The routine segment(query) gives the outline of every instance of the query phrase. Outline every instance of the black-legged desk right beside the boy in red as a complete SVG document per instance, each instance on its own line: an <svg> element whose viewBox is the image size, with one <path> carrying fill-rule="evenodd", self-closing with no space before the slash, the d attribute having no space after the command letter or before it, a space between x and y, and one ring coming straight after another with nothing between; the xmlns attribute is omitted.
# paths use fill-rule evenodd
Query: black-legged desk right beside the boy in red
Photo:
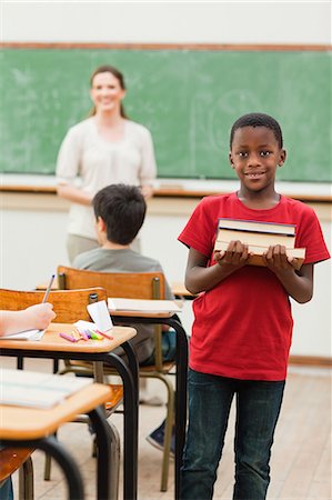
<svg viewBox="0 0 332 500"><path fill-rule="evenodd" d="M174 499L180 498L180 468L187 426L187 370L188 370L188 338L177 314L138 311L110 311L113 323L128 324L168 324L177 331L177 373L175 373L175 484Z"/></svg>

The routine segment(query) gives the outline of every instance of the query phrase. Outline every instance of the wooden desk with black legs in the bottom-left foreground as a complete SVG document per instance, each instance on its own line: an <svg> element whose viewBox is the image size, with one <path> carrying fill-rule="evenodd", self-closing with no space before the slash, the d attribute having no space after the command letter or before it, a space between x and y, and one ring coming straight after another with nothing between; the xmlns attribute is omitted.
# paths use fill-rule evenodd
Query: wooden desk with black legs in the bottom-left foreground
<svg viewBox="0 0 332 500"><path fill-rule="evenodd" d="M97 468L97 494L98 499L109 498L111 437L100 406L108 400L110 392L110 388L107 386L91 383L50 409L1 404L1 444L16 448L39 448L50 453L63 471L70 500L82 500L84 492L80 470L66 448L52 434L62 423L72 421L80 413L88 413L94 426L100 450Z"/></svg>

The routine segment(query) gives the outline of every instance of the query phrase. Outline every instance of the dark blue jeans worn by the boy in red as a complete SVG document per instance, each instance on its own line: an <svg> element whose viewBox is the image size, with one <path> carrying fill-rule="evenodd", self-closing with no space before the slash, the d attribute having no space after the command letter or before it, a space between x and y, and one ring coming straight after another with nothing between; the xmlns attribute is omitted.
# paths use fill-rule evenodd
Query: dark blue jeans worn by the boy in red
<svg viewBox="0 0 332 500"><path fill-rule="evenodd" d="M237 397L233 500L264 500L284 381L237 380L189 370L189 423L181 500L213 497L232 399Z"/></svg>

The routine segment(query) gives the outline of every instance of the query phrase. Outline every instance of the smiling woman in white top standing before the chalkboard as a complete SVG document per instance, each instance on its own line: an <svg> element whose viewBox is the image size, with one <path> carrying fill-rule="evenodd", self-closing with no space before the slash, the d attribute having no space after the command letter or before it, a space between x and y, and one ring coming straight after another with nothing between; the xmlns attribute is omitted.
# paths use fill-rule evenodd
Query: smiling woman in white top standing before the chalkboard
<svg viewBox="0 0 332 500"><path fill-rule="evenodd" d="M125 116L123 74L101 66L91 76L93 108L69 129L57 162L58 194L71 201L67 249L72 262L99 247L91 207L93 196L113 183L134 184L145 199L153 194L155 159L149 130Z"/></svg>

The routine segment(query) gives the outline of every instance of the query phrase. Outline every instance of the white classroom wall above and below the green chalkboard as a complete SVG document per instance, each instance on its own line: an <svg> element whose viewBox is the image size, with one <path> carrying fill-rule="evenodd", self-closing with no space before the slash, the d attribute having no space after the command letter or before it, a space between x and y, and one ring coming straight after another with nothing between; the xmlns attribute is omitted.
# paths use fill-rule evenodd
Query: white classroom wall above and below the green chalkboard
<svg viewBox="0 0 332 500"><path fill-rule="evenodd" d="M6 42L331 43L330 1L2 0L0 16ZM27 209L1 207L2 287L32 288L47 280L58 263L67 263L66 211L53 202L41 210L33 200ZM161 260L170 281L183 280L187 251L177 236L187 219L150 212L142 230L143 252ZM330 244L331 221L324 223L324 231ZM316 267L315 282L313 301L294 307L292 352L331 356L330 263Z"/></svg>

